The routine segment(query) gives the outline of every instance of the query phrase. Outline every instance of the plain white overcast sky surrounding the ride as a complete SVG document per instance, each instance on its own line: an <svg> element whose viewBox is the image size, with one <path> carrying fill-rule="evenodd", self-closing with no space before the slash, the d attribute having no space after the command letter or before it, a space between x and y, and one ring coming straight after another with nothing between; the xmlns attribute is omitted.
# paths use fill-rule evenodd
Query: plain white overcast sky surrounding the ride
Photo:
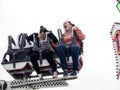
<svg viewBox="0 0 120 90"><path fill-rule="evenodd" d="M110 36L112 25L120 20L116 4L116 0L0 0L0 62L8 35L29 35L44 25L57 36L57 29L63 30L63 22L70 20L86 35L84 66L68 87L47 90L120 90ZM13 80L0 65L1 79Z"/></svg>

